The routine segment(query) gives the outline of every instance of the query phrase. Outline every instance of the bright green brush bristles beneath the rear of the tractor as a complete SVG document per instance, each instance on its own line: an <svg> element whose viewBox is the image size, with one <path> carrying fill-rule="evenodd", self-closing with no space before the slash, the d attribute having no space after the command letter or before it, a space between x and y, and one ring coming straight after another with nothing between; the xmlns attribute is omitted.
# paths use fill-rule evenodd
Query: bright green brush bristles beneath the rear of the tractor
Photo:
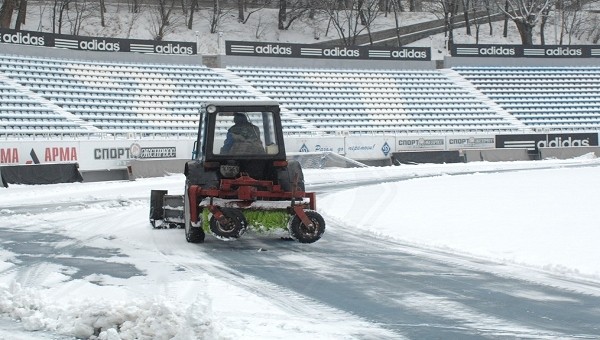
<svg viewBox="0 0 600 340"><path fill-rule="evenodd" d="M241 209L248 228L257 232L267 232L276 229L287 230L290 215L283 210L249 210ZM202 210L202 228L205 232L210 230L210 212L208 209Z"/></svg>

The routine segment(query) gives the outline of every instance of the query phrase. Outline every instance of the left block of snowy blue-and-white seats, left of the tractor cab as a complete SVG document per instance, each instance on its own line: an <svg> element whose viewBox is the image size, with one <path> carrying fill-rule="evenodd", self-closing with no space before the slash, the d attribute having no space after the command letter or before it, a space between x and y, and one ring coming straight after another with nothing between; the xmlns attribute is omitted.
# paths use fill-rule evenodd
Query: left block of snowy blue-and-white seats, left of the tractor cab
<svg viewBox="0 0 600 340"><path fill-rule="evenodd" d="M3 133L55 131L140 133L140 134L195 134L198 128L198 108L206 100L255 99L257 95L238 86L223 75L203 65L168 65L132 62L92 62L83 60L52 59L0 55L0 75L31 95L17 94L14 101L20 107L36 105L38 116L33 120L5 124ZM8 88L5 84L5 88ZM52 109L49 114L31 98L54 104L72 114L80 125L65 121L64 129L58 124L44 122L60 116ZM37 104L36 104L37 103ZM3 116L11 107L2 105ZM41 115L41 116L40 116ZM43 117L42 117L43 116ZM60 117L59 117L60 118ZM44 120L46 119L46 120ZM64 121L65 119L61 119ZM291 117L284 126L290 130L303 127ZM15 131L20 127L25 131ZM65 131L66 128L72 131ZM78 129L79 127L79 129ZM225 129L225 127L223 127ZM223 131L224 132L224 131Z"/></svg>

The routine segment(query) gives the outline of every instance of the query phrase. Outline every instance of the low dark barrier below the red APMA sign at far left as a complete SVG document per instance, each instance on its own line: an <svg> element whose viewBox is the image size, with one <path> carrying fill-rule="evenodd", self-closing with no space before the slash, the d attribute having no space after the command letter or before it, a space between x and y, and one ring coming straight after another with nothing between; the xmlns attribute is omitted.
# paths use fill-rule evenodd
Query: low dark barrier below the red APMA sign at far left
<svg viewBox="0 0 600 340"><path fill-rule="evenodd" d="M82 182L77 163L28 164L0 167L2 183L8 184L57 184Z"/></svg>

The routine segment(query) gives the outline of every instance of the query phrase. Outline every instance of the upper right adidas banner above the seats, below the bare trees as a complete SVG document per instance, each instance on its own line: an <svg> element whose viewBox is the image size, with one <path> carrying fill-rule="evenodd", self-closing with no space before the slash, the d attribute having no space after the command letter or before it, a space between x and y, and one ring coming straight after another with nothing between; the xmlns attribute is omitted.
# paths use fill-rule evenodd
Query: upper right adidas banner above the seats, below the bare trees
<svg viewBox="0 0 600 340"><path fill-rule="evenodd" d="M597 58L600 47L595 45L475 45L455 44L453 57L508 57L508 58Z"/></svg>

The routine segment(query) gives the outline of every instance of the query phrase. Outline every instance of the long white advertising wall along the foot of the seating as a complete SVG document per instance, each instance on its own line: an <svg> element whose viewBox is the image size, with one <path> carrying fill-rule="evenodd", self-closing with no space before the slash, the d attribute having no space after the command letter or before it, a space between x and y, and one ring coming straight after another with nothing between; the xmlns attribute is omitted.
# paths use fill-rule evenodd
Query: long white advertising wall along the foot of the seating
<svg viewBox="0 0 600 340"><path fill-rule="evenodd" d="M287 135L286 152L339 155L371 166L398 163L511 161L547 157L569 158L596 149L598 133L498 135ZM191 159L192 137L152 138L4 138L0 140L0 166L77 163L84 181L128 180L180 172L182 160ZM577 149L552 154L549 149ZM584 147L584 148L581 148ZM540 157L540 149L544 149ZM437 152L437 153L435 153ZM446 153L447 152L447 153ZM559 151L556 151L559 152ZM529 153L529 157L525 154ZM458 155L458 156L457 156ZM128 168L135 161L139 164ZM147 162L151 161L151 162ZM322 164L336 164L329 157ZM132 163L134 162L134 163ZM347 163L343 161L342 163ZM145 164L152 164L146 166ZM175 165L173 165L175 164ZM174 166L172 168L171 166ZM334 165L336 166L336 165Z"/></svg>

